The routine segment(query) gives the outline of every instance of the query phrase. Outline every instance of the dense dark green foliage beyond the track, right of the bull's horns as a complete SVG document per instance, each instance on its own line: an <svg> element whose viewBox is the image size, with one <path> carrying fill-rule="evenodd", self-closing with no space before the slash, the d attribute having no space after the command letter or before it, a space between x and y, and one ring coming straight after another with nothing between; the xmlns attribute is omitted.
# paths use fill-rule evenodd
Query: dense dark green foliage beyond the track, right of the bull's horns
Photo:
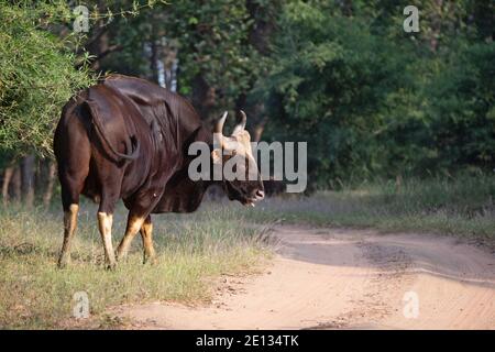
<svg viewBox="0 0 495 352"><path fill-rule="evenodd" d="M308 141L309 180L323 187L491 169L495 45L466 25L471 2L417 1L418 35L402 28L408 3L349 3L284 7L253 92L268 109L265 136Z"/></svg>

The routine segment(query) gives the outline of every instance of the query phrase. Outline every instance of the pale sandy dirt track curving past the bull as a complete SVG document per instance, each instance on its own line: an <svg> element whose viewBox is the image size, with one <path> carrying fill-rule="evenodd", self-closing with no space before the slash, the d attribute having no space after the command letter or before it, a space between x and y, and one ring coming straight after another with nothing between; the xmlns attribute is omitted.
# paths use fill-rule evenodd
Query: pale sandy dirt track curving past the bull
<svg viewBox="0 0 495 352"><path fill-rule="evenodd" d="M278 227L273 235L271 266L226 277L211 305L119 315L145 329L495 329L493 253L416 234Z"/></svg>

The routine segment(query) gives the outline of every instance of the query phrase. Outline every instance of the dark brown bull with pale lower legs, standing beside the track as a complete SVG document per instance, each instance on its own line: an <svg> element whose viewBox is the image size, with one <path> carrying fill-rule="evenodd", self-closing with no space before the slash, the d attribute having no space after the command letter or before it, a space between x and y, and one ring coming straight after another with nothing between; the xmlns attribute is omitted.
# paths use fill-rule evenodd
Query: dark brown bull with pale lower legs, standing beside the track
<svg viewBox="0 0 495 352"><path fill-rule="evenodd" d="M98 224L109 267L116 265L111 228L119 199L129 216L117 258L127 255L138 232L143 239L144 261L154 258L151 213L194 211L215 183L188 177L193 156L187 151L193 142L208 143L211 163L241 154L256 167L242 114L243 122L231 136L220 134L224 147L232 141L239 146L223 155L213 150L212 133L186 99L146 80L112 75L74 97L64 107L54 136L64 207L58 265L65 266L70 258L81 194L99 202ZM215 132L221 133L226 117L217 122ZM219 183L230 199L243 205L264 197L258 174L256 180L223 178Z"/></svg>

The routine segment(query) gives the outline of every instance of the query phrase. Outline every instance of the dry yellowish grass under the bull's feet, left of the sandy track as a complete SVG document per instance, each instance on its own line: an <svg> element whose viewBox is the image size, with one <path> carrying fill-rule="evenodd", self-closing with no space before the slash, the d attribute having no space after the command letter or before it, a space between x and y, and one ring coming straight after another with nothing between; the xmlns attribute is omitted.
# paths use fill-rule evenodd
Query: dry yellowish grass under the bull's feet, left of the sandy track
<svg viewBox="0 0 495 352"><path fill-rule="evenodd" d="M105 308L125 302L198 302L211 298L211 279L255 270L270 255L264 232L244 223L237 207L211 207L193 215L155 216L156 265L142 264L139 237L127 262L103 270L96 208L79 215L73 263L57 270L62 213L55 210L0 209L0 328L77 328L73 296L86 292L92 327L108 328ZM240 207L239 207L240 208ZM125 211L116 215L114 242L123 234Z"/></svg>

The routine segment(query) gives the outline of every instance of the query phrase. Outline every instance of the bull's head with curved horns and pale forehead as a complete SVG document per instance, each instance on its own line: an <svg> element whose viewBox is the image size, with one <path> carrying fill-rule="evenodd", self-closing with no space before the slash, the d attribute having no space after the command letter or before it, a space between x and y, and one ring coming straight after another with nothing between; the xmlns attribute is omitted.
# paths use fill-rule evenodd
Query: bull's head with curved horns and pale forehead
<svg viewBox="0 0 495 352"><path fill-rule="evenodd" d="M253 157L251 136L245 130L246 116L244 111L241 111L241 116L242 121L234 128L231 136L224 136L222 133L227 111L217 121L213 130L215 148L211 157L213 164L224 165L222 183L229 199L254 207L257 200L264 198L265 191Z"/></svg>

